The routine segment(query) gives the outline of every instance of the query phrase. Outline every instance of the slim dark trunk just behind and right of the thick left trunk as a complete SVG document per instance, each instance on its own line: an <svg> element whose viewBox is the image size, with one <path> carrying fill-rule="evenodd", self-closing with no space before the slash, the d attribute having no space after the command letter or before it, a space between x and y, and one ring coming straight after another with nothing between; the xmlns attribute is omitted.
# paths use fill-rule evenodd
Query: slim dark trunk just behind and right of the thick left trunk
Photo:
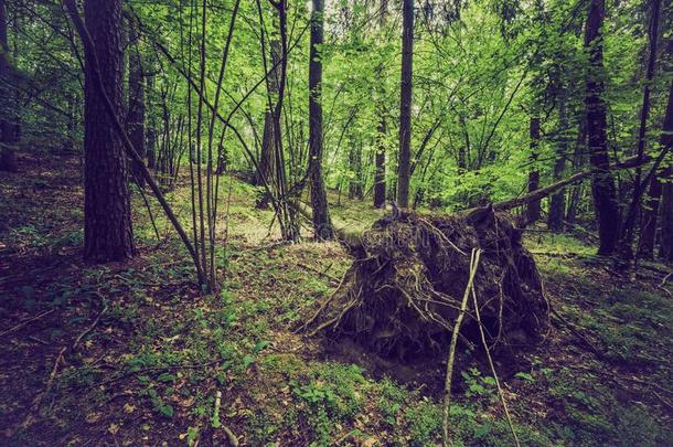
<svg viewBox="0 0 673 447"><path fill-rule="evenodd" d="M129 21L129 77L128 77L128 115L126 121L127 134L141 159L146 158L145 146L145 79L142 60L139 49L138 25ZM138 163L131 163L132 180L138 188L145 187L145 180Z"/></svg>

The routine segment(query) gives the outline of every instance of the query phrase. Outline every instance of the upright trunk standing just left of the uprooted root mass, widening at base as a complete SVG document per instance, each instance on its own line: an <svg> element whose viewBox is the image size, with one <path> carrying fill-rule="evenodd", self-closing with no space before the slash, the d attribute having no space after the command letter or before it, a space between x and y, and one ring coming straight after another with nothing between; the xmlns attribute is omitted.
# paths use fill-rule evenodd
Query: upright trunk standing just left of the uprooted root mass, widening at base
<svg viewBox="0 0 673 447"><path fill-rule="evenodd" d="M322 61L319 45L322 45L323 13L324 0L313 0L309 53L309 173L313 235L317 240L331 240L334 237L334 231L322 179Z"/></svg>

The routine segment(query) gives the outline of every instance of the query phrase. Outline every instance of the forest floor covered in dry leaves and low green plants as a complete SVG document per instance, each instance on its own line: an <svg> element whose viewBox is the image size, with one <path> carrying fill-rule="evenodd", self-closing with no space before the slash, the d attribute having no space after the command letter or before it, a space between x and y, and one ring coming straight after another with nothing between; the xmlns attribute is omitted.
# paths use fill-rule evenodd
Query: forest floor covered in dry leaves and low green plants
<svg viewBox="0 0 673 447"><path fill-rule="evenodd" d="M227 430L242 445L438 444L441 382L429 377L442 364L418 375L293 332L348 268L339 244L276 243L271 213L235 181L225 288L201 296L138 193L139 255L90 266L77 160L24 156L19 167L0 177L0 444L204 446ZM183 219L188 191L170 194ZM332 213L350 225L378 216L341 202ZM622 277L586 241L531 232L526 245L555 315L541 345L499 364L521 443L673 445L670 268ZM453 438L511 445L488 369L460 368Z"/></svg>

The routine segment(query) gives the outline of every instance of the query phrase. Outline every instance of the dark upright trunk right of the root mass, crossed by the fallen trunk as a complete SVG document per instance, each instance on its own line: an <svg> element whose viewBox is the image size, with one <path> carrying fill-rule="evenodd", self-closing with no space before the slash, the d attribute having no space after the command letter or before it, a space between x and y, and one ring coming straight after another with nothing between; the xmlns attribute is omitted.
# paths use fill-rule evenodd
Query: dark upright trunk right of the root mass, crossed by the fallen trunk
<svg viewBox="0 0 673 447"><path fill-rule="evenodd" d="M597 170L591 179L591 193L597 214L600 246L598 254L610 256L619 238L620 215L615 179L609 172L607 106L603 99L605 66L602 58L602 23L605 0L591 0L585 30L585 47L589 52L586 75L587 130L589 161Z"/></svg>

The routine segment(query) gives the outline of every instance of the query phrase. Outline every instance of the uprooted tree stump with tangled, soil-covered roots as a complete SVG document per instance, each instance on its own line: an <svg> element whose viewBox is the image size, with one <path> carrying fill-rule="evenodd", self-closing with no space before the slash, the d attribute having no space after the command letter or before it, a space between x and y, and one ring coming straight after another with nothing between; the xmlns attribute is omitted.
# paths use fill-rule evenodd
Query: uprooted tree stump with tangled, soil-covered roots
<svg viewBox="0 0 673 447"><path fill-rule="evenodd" d="M446 353L473 248L482 251L473 288L489 345L532 344L547 331L549 309L533 256L512 220L490 206L441 216L397 213L344 240L355 259L306 323L310 333L349 337L399 360ZM480 345L472 308L460 336Z"/></svg>

